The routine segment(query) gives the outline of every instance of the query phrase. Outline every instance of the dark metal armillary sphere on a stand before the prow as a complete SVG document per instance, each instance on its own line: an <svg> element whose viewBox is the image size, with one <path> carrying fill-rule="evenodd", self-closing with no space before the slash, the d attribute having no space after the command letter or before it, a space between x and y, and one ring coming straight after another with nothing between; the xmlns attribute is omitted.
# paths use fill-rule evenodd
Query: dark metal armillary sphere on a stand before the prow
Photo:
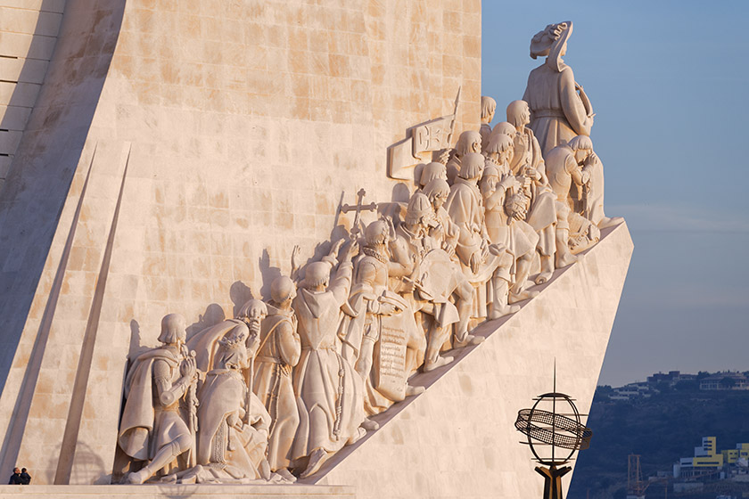
<svg viewBox="0 0 749 499"><path fill-rule="evenodd" d="M536 471L544 477L544 499L562 499L562 477L570 470L563 465L572 461L572 455L587 449L593 431L580 422L580 412L572 398L556 391L556 369L554 391L534 398L531 409L517 413L515 429L526 436L534 460L540 464Z"/></svg>

